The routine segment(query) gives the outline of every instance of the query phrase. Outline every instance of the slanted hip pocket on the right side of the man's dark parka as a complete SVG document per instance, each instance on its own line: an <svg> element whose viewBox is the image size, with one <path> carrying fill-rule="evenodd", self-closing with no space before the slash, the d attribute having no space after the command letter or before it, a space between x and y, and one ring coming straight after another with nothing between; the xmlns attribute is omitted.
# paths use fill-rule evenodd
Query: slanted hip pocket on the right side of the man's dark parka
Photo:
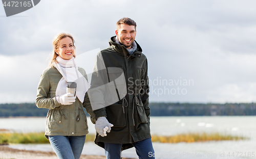
<svg viewBox="0 0 256 159"><path fill-rule="evenodd" d="M136 97L135 97L136 98ZM139 123L147 123L147 116L143 107L143 103L141 101L141 97L140 95L137 95L137 98L135 100L135 104L136 104L136 108L137 108L137 112L138 112L138 121Z"/></svg>

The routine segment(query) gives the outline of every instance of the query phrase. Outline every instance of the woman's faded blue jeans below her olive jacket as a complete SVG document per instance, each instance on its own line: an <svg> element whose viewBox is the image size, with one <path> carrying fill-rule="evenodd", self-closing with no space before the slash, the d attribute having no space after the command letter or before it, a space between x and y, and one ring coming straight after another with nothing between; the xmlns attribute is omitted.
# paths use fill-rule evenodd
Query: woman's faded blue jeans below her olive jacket
<svg viewBox="0 0 256 159"><path fill-rule="evenodd" d="M86 136L49 136L49 141L59 159L79 159Z"/></svg>

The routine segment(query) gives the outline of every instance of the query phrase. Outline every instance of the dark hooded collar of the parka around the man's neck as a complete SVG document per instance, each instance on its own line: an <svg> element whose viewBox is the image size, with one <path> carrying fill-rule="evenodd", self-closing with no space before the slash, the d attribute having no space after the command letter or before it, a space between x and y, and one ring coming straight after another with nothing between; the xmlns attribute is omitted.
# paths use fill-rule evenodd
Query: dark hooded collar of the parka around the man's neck
<svg viewBox="0 0 256 159"><path fill-rule="evenodd" d="M120 54L123 55L123 50L126 52L126 55L129 55L128 50L126 49L125 46L123 45L119 45L116 41L115 41L116 36L113 36L110 38L109 44L111 47L113 47L117 52L119 52ZM135 56L140 58L141 57L141 53L142 53L142 48L140 47L140 45L137 43L137 41L135 40L136 44L137 44L137 49L133 52L133 54L131 56Z"/></svg>

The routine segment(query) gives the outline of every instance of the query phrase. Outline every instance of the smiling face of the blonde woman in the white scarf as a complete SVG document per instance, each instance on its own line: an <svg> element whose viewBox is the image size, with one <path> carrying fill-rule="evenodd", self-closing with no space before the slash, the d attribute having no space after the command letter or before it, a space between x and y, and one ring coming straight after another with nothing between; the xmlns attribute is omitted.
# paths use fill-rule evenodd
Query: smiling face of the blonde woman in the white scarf
<svg viewBox="0 0 256 159"><path fill-rule="evenodd" d="M72 39L70 37L61 39L59 41L58 48L55 49L55 52L63 60L70 60L75 54L75 49L74 49Z"/></svg>

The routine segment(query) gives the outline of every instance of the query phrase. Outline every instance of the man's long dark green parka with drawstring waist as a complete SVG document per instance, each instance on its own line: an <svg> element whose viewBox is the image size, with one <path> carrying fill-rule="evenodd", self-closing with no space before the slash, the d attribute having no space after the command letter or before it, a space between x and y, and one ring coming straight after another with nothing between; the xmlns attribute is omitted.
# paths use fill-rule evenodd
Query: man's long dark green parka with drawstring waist
<svg viewBox="0 0 256 159"><path fill-rule="evenodd" d="M122 143L124 150L133 147L132 143L151 138L147 59L137 42L137 50L132 55L129 55L125 46L115 42L115 36L111 38L109 44L110 47L98 53L96 63L103 59L109 82L111 82L110 76L113 76L111 73L114 72L108 71L110 70L108 68L121 68L127 94L124 98L118 95L119 101L94 111L96 119L104 116L114 125L106 137L96 134L95 143L101 147L104 147L103 142ZM95 73L99 77L97 72L94 72L93 76ZM93 81L92 77L92 84Z"/></svg>

